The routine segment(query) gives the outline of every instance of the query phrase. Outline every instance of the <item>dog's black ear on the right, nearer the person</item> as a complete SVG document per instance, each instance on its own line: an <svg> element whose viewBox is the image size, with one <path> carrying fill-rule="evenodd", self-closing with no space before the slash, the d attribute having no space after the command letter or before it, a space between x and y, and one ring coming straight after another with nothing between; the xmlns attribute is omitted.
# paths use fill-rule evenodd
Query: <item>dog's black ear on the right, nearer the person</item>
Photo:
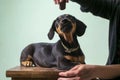
<svg viewBox="0 0 120 80"><path fill-rule="evenodd" d="M80 20L76 19L76 34L82 36L85 33L86 25Z"/></svg>

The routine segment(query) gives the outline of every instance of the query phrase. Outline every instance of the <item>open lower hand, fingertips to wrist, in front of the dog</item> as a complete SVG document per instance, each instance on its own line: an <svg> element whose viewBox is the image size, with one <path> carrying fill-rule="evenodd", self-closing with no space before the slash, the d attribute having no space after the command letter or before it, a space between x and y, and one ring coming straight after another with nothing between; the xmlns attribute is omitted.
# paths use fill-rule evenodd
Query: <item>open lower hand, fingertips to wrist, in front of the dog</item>
<svg viewBox="0 0 120 80"><path fill-rule="evenodd" d="M58 80L92 80L94 76L94 65L76 65L66 72L60 72Z"/></svg>

